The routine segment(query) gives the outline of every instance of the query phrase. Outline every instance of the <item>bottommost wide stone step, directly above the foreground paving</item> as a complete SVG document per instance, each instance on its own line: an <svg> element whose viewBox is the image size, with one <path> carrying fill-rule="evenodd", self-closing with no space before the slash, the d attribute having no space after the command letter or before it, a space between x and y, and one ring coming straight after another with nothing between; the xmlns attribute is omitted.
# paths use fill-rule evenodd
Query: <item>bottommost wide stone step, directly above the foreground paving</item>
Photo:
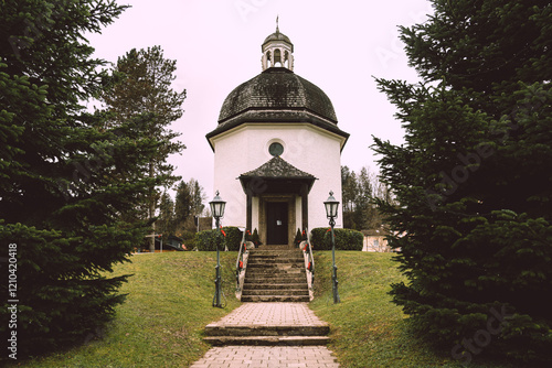
<svg viewBox="0 0 552 368"><path fill-rule="evenodd" d="M215 346L314 346L330 342L328 336L208 336L203 340Z"/></svg>

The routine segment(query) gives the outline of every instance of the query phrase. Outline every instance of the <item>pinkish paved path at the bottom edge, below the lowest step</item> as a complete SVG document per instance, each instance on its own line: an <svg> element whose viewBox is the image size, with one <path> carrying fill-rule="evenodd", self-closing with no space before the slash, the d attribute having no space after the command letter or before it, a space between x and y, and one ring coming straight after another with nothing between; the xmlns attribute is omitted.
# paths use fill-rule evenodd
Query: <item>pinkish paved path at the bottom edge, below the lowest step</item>
<svg viewBox="0 0 552 368"><path fill-rule="evenodd" d="M326 346L224 346L210 349L191 368L338 368Z"/></svg>

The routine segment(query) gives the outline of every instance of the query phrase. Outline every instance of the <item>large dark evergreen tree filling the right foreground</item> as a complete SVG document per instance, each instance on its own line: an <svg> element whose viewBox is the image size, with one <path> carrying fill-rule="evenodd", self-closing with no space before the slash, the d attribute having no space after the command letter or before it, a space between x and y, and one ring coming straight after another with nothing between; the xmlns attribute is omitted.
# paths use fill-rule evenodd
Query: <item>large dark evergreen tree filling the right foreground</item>
<svg viewBox="0 0 552 368"><path fill-rule="evenodd" d="M423 82L379 79L405 144L375 140L379 201L407 283L412 326L452 348L552 361L552 4L433 0L402 28Z"/></svg>

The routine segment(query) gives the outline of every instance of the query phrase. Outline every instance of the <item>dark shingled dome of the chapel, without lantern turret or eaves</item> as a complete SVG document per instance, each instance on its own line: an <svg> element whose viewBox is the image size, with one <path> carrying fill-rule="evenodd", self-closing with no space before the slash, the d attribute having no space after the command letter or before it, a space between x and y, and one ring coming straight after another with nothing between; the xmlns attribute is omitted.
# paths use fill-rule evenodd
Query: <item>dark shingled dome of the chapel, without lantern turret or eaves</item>
<svg viewBox="0 0 552 368"><path fill-rule="evenodd" d="M237 86L224 100L219 116L222 125L246 112L304 112L337 123L328 96L315 84L285 67L270 67ZM290 116L290 118L291 118ZM250 117L251 118L251 117ZM297 119L296 119L297 120Z"/></svg>

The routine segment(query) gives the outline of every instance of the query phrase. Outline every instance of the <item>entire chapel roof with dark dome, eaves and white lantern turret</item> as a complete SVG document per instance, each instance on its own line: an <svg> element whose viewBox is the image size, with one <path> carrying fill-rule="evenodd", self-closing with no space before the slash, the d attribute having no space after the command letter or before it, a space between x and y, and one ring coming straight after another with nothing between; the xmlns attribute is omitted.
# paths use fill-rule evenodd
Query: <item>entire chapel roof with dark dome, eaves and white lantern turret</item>
<svg viewBox="0 0 552 368"><path fill-rule="evenodd" d="M213 150L214 137L244 123L309 123L344 138L344 144L349 134L338 128L331 100L315 84L293 72L293 46L276 25L276 32L262 46L263 73L230 93L222 105L219 126L206 134Z"/></svg>

